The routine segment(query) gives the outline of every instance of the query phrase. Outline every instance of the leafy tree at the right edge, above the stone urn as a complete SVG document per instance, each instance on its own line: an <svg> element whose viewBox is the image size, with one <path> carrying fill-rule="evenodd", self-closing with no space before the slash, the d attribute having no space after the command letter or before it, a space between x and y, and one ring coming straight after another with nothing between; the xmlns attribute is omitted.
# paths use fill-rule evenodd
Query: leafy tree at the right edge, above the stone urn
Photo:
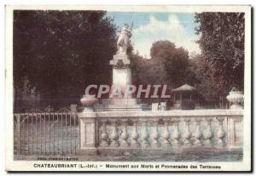
<svg viewBox="0 0 256 176"><path fill-rule="evenodd" d="M226 96L232 87L243 89L244 13L195 14L196 33L202 58L209 64L212 79ZM212 91L215 91L212 89Z"/></svg>

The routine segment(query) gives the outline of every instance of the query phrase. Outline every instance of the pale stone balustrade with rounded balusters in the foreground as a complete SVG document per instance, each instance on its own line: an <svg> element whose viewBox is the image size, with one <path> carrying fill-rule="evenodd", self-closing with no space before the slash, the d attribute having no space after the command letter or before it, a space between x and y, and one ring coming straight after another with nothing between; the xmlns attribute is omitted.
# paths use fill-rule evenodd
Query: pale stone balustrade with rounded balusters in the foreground
<svg viewBox="0 0 256 176"><path fill-rule="evenodd" d="M242 110L83 112L79 119L84 152L242 148Z"/></svg>

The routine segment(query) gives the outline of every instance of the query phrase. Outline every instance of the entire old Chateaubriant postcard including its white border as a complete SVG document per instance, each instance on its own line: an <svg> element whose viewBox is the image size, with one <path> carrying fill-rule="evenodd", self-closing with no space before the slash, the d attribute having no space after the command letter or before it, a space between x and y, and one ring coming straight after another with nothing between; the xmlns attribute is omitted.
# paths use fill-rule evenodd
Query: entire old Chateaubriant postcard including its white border
<svg viewBox="0 0 256 176"><path fill-rule="evenodd" d="M249 172L250 6L12 6L8 171Z"/></svg>

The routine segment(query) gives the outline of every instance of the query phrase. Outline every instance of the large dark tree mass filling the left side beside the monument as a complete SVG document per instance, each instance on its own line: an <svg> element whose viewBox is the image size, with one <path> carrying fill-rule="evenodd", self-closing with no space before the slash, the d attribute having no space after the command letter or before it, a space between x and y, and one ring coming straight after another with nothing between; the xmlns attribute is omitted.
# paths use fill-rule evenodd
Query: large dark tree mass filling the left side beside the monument
<svg viewBox="0 0 256 176"><path fill-rule="evenodd" d="M15 89L28 77L44 99L79 99L86 85L110 83L116 27L105 14L15 11Z"/></svg>

